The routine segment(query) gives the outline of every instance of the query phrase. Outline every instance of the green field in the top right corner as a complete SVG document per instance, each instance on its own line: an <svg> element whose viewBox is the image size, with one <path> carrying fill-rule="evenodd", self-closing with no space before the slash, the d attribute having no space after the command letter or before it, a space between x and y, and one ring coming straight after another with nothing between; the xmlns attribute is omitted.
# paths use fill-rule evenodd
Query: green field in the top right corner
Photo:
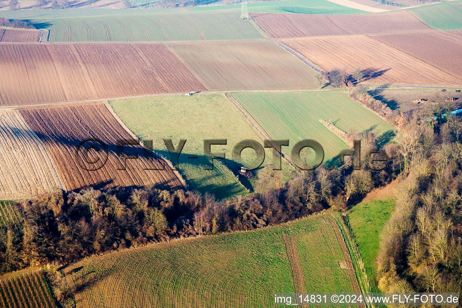
<svg viewBox="0 0 462 308"><path fill-rule="evenodd" d="M408 9L424 24L438 30L462 30L462 0Z"/></svg>

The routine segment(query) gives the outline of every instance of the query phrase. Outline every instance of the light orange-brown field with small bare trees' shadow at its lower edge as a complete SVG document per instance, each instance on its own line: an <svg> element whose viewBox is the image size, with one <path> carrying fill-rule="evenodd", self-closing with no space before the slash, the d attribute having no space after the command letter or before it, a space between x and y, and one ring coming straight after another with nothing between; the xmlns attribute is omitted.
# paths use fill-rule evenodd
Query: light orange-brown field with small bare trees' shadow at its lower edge
<svg viewBox="0 0 462 308"><path fill-rule="evenodd" d="M360 68L365 84L460 86L462 81L369 36L281 40L325 71Z"/></svg>

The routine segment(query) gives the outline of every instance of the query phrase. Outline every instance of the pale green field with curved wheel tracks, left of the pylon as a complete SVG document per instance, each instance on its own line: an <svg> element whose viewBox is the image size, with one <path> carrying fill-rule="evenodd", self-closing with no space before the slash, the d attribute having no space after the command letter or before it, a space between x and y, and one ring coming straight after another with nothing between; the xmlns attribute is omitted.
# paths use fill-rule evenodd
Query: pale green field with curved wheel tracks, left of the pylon
<svg viewBox="0 0 462 308"><path fill-rule="evenodd" d="M162 42L261 38L238 11L138 13L90 17L31 19L36 28L49 30L49 42Z"/></svg>

